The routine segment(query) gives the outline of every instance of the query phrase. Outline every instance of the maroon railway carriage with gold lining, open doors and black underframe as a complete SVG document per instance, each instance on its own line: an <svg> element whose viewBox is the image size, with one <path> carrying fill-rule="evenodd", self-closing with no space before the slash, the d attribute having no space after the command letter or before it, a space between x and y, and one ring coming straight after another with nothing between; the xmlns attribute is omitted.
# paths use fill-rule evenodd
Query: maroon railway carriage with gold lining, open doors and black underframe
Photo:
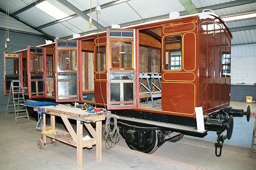
<svg viewBox="0 0 256 170"><path fill-rule="evenodd" d="M134 150L151 153L183 134L204 137L212 130L217 151L232 135L233 116L250 117L250 109L229 107L231 39L209 12L108 28L28 47L19 55L20 80L30 98L105 105ZM196 129L196 107L203 108L203 131Z"/></svg>

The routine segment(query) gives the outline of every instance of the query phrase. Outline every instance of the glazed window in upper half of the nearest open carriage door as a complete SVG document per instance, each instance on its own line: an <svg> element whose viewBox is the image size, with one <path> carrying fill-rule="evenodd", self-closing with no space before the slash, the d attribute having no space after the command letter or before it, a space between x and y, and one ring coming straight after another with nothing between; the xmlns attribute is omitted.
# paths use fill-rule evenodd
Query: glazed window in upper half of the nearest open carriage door
<svg viewBox="0 0 256 170"><path fill-rule="evenodd" d="M113 68L131 68L132 62L131 42L112 42L111 43L111 63Z"/></svg>

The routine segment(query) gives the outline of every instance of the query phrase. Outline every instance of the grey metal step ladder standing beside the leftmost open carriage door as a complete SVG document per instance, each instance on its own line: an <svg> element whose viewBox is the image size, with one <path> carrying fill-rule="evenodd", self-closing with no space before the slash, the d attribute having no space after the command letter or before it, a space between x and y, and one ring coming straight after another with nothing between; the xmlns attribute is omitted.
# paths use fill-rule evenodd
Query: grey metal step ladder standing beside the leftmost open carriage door
<svg viewBox="0 0 256 170"><path fill-rule="evenodd" d="M11 99L13 98L13 99ZM6 118L14 116L15 122L17 123L17 118L27 117L28 121L30 121L30 117L28 116L27 107L23 104L25 103L24 94L22 91L22 87L19 80L11 81L10 91L9 91L9 99L6 108ZM10 110L13 107L13 110ZM10 115L10 113L14 113L14 115Z"/></svg>

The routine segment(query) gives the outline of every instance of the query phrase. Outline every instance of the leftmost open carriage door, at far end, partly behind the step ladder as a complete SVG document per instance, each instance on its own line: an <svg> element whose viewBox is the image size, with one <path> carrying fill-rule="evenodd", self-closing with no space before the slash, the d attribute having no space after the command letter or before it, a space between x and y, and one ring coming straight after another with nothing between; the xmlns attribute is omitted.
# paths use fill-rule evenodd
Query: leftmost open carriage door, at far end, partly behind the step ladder
<svg viewBox="0 0 256 170"><path fill-rule="evenodd" d="M19 80L19 54L3 53L3 88L5 95L9 94L12 80Z"/></svg>

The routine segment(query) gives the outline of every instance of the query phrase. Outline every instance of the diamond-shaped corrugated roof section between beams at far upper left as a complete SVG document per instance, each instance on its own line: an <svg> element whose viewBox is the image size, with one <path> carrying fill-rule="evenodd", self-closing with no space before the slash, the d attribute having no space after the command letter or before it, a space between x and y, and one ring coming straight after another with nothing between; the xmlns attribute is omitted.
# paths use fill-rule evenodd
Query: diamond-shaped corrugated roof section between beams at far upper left
<svg viewBox="0 0 256 170"><path fill-rule="evenodd" d="M45 12L39 10L37 7L32 7L17 16L24 22L31 24L34 27L39 27L40 25L55 21L55 19L47 15Z"/></svg>

